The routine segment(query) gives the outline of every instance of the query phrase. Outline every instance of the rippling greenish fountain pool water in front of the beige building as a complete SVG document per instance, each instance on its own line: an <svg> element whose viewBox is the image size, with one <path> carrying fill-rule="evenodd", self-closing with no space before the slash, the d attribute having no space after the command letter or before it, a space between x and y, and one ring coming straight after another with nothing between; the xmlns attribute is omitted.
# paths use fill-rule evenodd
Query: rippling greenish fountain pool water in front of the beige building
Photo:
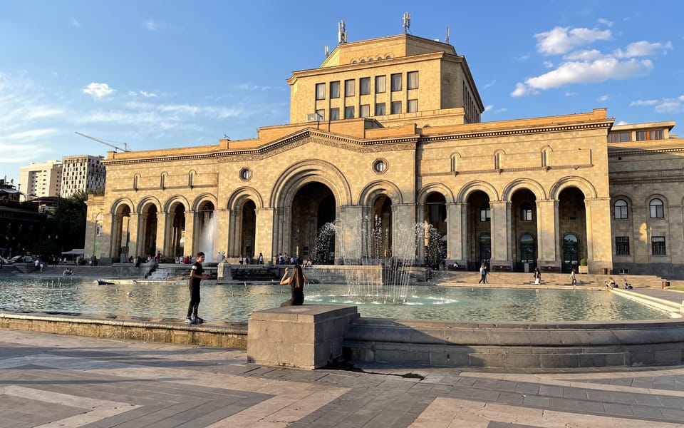
<svg viewBox="0 0 684 428"><path fill-rule="evenodd" d="M378 302L346 295L344 285L308 285L305 301L357 305L364 317L464 321L658 320L668 312L605 291L512 288L409 287L405 302ZM65 312L126 317L185 317L190 292L185 281L96 285L71 277L0 278L0 310ZM289 299L280 285L202 284L199 316L215 321L247 321L255 310Z"/></svg>

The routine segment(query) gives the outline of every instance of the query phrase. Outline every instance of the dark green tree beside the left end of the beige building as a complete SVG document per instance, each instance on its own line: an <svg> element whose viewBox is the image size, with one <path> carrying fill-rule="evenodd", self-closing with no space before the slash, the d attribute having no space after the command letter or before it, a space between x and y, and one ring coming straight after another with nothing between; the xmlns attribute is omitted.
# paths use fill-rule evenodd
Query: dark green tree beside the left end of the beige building
<svg viewBox="0 0 684 428"><path fill-rule="evenodd" d="M88 193L74 193L59 198L50 214L53 230L59 237L61 250L83 248L86 243L86 199Z"/></svg>

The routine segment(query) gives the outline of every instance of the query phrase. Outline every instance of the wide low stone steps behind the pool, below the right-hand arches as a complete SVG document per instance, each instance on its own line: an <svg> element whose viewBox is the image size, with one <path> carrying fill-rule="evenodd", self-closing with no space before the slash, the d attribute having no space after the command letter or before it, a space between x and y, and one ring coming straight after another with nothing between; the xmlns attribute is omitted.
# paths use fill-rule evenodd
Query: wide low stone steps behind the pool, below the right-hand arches
<svg viewBox="0 0 684 428"><path fill-rule="evenodd" d="M600 275L600 274L575 274L578 286L605 287L608 277L613 277L618 287L623 287L625 280L635 288L657 287L662 288L663 281L668 281L655 275ZM472 285L480 281L480 272L468 271L432 271L429 282L437 282L442 285ZM525 272L490 272L487 281L491 285L529 285L534 286L532 273ZM671 285L677 282L670 281ZM569 273L542 273L541 286L569 286Z"/></svg>

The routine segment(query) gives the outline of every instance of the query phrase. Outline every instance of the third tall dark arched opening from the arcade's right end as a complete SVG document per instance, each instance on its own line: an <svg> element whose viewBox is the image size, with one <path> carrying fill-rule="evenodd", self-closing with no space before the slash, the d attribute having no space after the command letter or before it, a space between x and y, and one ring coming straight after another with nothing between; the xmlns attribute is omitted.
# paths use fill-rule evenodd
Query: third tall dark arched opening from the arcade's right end
<svg viewBox="0 0 684 428"><path fill-rule="evenodd" d="M468 270L480 270L485 263L489 267L492 257L492 210L489 195L476 190L467 198L467 256Z"/></svg>

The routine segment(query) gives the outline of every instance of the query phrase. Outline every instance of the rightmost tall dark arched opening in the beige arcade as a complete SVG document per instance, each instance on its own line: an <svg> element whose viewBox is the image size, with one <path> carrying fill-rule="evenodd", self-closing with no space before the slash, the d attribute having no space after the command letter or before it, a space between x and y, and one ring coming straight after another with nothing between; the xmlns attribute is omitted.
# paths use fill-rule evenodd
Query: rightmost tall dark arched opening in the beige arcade
<svg viewBox="0 0 684 428"><path fill-rule="evenodd" d="M586 258L586 208L584 193L579 188L565 188L559 194L559 236L563 238L561 271L570 272L573 265ZM568 242L566 243L566 238ZM566 253L566 245L568 253ZM566 263L567 261L567 263Z"/></svg>

